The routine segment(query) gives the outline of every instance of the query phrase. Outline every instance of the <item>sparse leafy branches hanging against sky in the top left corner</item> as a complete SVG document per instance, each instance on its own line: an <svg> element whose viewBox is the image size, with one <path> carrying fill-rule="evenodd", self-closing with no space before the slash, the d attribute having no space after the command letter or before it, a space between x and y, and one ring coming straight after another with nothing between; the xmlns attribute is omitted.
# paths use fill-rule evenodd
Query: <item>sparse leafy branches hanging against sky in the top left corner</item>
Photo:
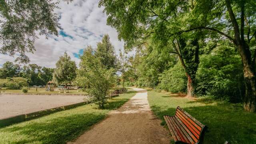
<svg viewBox="0 0 256 144"><path fill-rule="evenodd" d="M72 0L64 0L70 2ZM0 48L1 54L14 56L17 61L29 62L26 52L33 52L34 41L39 35L58 35L58 14L54 13L57 2L52 0L1 0L0 1Z"/></svg>

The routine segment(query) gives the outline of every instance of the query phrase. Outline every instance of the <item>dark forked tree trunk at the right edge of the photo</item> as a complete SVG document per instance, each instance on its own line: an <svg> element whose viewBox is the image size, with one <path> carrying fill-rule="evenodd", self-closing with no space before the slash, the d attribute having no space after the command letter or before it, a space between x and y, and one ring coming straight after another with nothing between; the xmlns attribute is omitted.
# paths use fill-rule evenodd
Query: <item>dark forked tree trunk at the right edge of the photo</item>
<svg viewBox="0 0 256 144"><path fill-rule="evenodd" d="M245 2L241 1L241 30L239 31L239 25L236 21L236 16L232 10L230 0L225 0L230 20L234 28L234 37L233 43L238 47L240 56L243 63L244 71L244 82L245 82L245 96L244 96L244 109L248 112L256 112L256 85L255 85L255 69L254 62L251 60L251 52L248 44L244 40L244 5ZM241 37L240 37L241 34ZM254 56L255 57L255 56Z"/></svg>

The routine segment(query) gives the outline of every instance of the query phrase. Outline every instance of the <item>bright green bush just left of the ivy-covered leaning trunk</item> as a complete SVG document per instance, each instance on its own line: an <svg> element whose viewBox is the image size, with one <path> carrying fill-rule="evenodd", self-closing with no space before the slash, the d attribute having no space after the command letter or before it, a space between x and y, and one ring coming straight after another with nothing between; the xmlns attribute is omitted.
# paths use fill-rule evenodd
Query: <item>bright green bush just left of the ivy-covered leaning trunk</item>
<svg viewBox="0 0 256 144"><path fill-rule="evenodd" d="M158 89L172 93L186 92L187 77L181 63L174 65L169 70L165 70L159 77Z"/></svg>

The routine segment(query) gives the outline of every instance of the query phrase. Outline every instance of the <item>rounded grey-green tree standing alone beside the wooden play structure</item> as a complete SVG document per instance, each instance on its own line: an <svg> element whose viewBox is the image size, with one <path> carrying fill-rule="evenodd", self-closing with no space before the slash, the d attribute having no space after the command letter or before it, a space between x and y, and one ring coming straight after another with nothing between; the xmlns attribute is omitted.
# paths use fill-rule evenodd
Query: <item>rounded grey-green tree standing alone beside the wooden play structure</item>
<svg viewBox="0 0 256 144"><path fill-rule="evenodd" d="M76 63L72 61L70 56L65 52L64 56L60 56L56 62L56 68L52 74L54 81L58 84L71 84L71 81L76 78Z"/></svg>

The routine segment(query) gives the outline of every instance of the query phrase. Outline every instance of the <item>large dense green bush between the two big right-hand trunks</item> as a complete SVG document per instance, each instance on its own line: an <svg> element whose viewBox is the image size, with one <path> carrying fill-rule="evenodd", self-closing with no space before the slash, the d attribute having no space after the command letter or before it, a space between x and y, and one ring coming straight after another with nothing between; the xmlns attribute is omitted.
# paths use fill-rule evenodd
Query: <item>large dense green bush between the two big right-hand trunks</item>
<svg viewBox="0 0 256 144"><path fill-rule="evenodd" d="M244 93L242 62L235 49L220 46L200 57L196 74L196 94L240 102Z"/></svg>

